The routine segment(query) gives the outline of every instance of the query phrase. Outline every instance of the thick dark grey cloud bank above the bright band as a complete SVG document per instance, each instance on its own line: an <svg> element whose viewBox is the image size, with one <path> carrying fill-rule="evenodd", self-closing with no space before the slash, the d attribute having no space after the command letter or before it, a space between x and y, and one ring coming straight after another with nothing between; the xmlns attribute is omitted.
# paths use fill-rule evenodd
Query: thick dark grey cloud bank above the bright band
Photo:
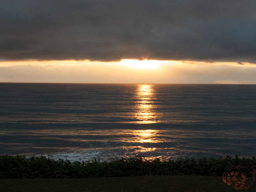
<svg viewBox="0 0 256 192"><path fill-rule="evenodd" d="M256 63L255 0L1 0L0 59Z"/></svg>

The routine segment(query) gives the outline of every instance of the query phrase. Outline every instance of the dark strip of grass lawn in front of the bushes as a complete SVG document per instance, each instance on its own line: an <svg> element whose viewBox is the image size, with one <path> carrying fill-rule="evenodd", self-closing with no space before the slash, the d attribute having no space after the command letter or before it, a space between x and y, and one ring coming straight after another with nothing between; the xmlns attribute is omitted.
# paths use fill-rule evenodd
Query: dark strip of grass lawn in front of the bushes
<svg viewBox="0 0 256 192"><path fill-rule="evenodd" d="M222 177L210 176L139 176L88 179L0 179L0 192L223 192L236 191L222 181ZM247 190L256 191L256 183Z"/></svg>

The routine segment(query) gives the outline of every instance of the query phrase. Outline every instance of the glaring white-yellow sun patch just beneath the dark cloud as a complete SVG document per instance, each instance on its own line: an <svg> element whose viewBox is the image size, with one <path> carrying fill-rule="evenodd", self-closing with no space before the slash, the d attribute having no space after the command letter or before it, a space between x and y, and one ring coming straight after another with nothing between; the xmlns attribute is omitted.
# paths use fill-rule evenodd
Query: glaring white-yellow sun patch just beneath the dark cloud
<svg viewBox="0 0 256 192"><path fill-rule="evenodd" d="M129 66L132 68L138 69L156 69L163 64L163 61L158 60L131 60L131 59L123 59L118 64Z"/></svg>

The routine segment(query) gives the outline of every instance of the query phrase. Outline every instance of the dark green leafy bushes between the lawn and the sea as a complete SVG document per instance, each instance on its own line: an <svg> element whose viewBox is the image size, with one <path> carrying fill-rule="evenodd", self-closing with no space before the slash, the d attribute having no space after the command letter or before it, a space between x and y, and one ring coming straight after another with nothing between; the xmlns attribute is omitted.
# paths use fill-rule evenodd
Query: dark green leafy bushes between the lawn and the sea
<svg viewBox="0 0 256 192"><path fill-rule="evenodd" d="M231 166L247 167L255 165L256 159L177 159L160 161L156 158L146 160L144 157L117 159L111 162L100 162L94 158L89 162L70 162L69 160L53 160L51 156L29 157L0 156L0 179L8 178L96 178L125 177L142 175L202 175L222 176Z"/></svg>

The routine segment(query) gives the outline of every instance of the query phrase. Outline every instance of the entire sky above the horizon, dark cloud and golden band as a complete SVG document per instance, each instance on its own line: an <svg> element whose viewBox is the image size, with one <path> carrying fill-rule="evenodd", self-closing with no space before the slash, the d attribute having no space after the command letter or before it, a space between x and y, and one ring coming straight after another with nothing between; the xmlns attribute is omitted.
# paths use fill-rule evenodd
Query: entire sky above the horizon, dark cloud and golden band
<svg viewBox="0 0 256 192"><path fill-rule="evenodd" d="M0 82L256 84L255 0L1 0Z"/></svg>

